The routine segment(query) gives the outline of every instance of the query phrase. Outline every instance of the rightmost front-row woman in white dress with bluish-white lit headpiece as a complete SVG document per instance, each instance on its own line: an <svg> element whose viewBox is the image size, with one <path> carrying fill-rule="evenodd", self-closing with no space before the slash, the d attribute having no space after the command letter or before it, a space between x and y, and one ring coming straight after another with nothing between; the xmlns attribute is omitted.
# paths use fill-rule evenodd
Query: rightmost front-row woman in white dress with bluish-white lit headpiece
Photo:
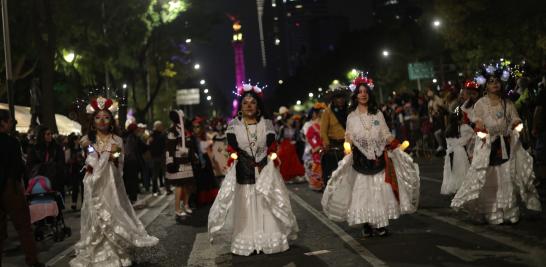
<svg viewBox="0 0 546 267"><path fill-rule="evenodd" d="M453 208L467 208L489 224L519 221L517 192L528 209L541 210L533 158L519 140L523 124L503 91L510 72L510 66L501 61L484 65L476 77L485 85L486 95L474 105L474 156L451 202Z"/></svg>

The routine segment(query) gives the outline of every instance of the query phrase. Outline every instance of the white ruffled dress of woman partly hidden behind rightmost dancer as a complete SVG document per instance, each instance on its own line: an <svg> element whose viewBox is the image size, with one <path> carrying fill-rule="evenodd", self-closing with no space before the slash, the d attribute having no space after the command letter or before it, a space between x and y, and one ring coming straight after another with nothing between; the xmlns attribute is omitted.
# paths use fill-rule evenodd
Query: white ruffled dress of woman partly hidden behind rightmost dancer
<svg viewBox="0 0 546 267"><path fill-rule="evenodd" d="M468 124L462 124L459 131L460 137L446 138L447 149L444 158L444 179L440 189L440 193L443 195L455 194L457 192L459 187L461 187L466 171L470 167L465 146L470 143L475 133Z"/></svg>

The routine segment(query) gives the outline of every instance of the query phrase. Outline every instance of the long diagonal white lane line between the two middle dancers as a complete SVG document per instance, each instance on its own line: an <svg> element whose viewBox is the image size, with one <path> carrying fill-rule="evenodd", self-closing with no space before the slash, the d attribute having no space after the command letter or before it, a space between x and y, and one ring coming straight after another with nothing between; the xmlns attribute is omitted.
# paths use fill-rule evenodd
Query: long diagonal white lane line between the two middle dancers
<svg viewBox="0 0 546 267"><path fill-rule="evenodd" d="M362 246L358 241L356 241L352 236L347 234L341 227L339 227L334 222L330 221L326 216L324 216L321 212L317 211L315 208L313 208L311 205L307 204L305 200L303 200L301 197L296 195L295 193L290 192L290 197L298 203L302 208L307 210L309 213L311 213L315 218L317 218L319 221L321 221L326 227L330 228L332 232L334 232L341 240L343 240L347 245L349 245L362 259L370 263L372 266L388 266L387 263L380 260L378 257L376 257L371 251L366 249L364 246Z"/></svg>

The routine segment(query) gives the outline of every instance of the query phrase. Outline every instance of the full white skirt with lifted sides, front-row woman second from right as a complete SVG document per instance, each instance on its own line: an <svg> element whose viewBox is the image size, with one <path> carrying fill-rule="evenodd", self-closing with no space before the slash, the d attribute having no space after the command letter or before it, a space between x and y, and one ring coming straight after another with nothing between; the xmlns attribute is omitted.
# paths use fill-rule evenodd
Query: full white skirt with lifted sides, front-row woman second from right
<svg viewBox="0 0 546 267"><path fill-rule="evenodd" d="M419 205L419 168L411 157L400 149L389 152L398 181L398 202L385 172L364 175L352 167L353 157L343 158L322 196L322 208L333 221L347 221L349 225L370 223L384 227L389 219L413 213Z"/></svg>

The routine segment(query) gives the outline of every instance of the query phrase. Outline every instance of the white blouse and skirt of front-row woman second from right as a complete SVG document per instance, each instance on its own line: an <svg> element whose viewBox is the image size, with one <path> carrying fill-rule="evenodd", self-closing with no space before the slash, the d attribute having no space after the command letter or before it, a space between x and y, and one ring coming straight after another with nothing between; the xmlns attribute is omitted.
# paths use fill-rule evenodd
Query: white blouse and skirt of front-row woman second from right
<svg viewBox="0 0 546 267"><path fill-rule="evenodd" d="M383 157L386 140L391 136L383 114L353 111L347 118L347 138L368 159ZM412 213L419 202L419 167L401 149L388 151L398 181L399 200L385 182L385 170L365 175L353 168L353 155L339 163L322 196L324 213L333 221L349 225L369 223L374 228L389 225L400 214Z"/></svg>

